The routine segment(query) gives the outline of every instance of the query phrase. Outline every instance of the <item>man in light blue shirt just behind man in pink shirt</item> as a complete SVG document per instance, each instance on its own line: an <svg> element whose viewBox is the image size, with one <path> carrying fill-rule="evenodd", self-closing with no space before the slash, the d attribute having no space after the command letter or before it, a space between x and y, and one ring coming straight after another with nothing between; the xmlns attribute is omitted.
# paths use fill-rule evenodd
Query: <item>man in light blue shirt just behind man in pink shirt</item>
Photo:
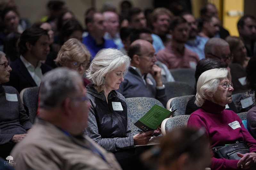
<svg viewBox="0 0 256 170"><path fill-rule="evenodd" d="M185 43L185 47L190 49L191 51L194 51L201 60L202 58L205 58L204 45L209 38L200 37L197 35L197 22L192 14L186 13L182 15L182 17L186 19L189 26L189 38L188 41Z"/></svg>

